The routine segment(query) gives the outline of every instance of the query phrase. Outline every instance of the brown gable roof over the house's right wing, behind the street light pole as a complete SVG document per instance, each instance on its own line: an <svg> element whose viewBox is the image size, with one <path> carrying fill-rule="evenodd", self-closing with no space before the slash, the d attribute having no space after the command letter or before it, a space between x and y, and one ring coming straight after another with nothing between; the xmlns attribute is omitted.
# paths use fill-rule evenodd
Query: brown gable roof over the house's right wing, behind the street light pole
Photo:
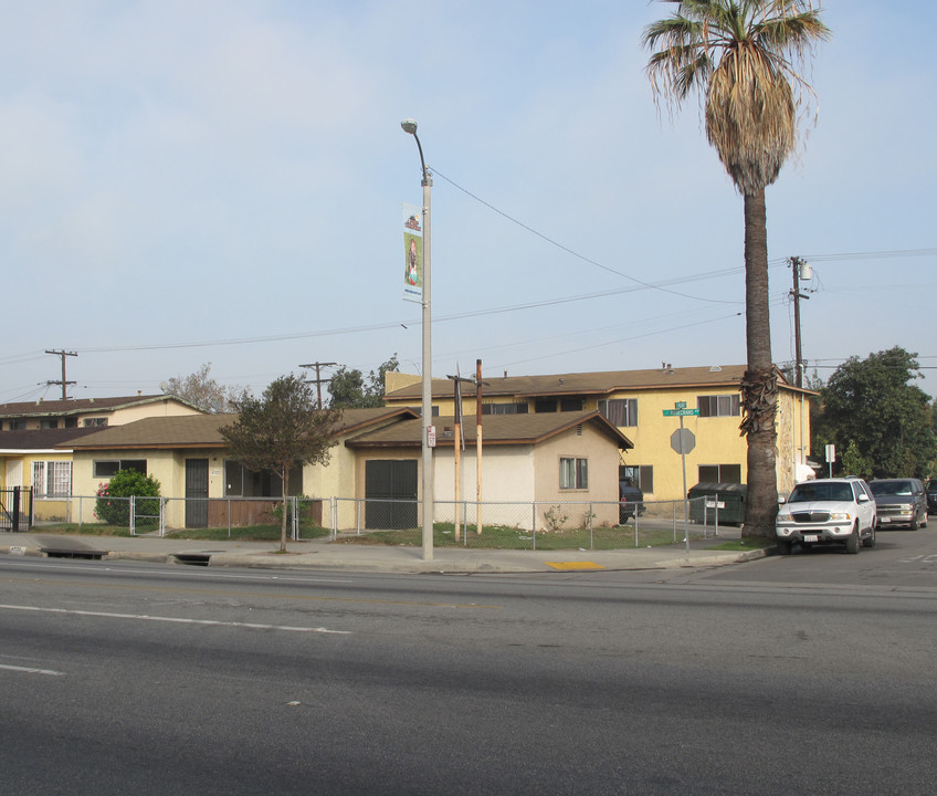
<svg viewBox="0 0 937 796"><path fill-rule="evenodd" d="M482 421L484 443L487 444L536 444L580 423L592 423L602 433L629 449L634 444L628 437L612 426L599 412L541 412L531 415L491 415ZM455 443L455 419L433 418L436 429L436 446L452 447ZM446 437L445 429L453 429L453 436ZM463 418L462 431L465 444L475 444L475 418ZM422 423L420 419L404 420L392 426L369 431L345 442L349 448L411 448L422 446Z"/></svg>

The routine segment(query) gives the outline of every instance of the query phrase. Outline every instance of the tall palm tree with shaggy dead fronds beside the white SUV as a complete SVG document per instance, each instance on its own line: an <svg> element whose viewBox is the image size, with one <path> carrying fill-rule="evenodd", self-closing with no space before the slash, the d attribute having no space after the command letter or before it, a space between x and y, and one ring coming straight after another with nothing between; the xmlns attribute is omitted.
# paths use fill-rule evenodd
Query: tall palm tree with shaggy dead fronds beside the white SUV
<svg viewBox="0 0 937 796"><path fill-rule="evenodd" d="M794 149L798 122L810 105L812 92L799 69L830 30L812 0L661 1L677 8L644 30L654 97L678 107L699 93L706 137L745 200L748 363L741 432L748 442L748 502L743 535L771 536L778 510L778 383L768 317L765 188Z"/></svg>

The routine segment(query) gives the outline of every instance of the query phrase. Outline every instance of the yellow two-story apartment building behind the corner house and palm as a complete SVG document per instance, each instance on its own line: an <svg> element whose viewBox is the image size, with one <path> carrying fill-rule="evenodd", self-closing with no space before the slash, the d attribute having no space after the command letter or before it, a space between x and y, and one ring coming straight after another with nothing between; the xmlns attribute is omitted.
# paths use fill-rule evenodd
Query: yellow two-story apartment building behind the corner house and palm
<svg viewBox="0 0 937 796"><path fill-rule="evenodd" d="M630 479L652 500L683 495L681 455L671 444L680 418L665 415L677 404L698 410L684 417L695 439L686 455L687 486L698 482L745 483L746 439L739 434L744 365L649 370L557 374L549 376L484 376L482 416L581 412L598 410L633 442L622 449L619 476ZM789 384L778 373L778 490L789 492L806 464L810 446L808 400L815 394ZM433 413L454 411L453 383L433 379ZM419 376L387 374L388 406L419 409ZM463 386L463 412L474 416L475 391Z"/></svg>

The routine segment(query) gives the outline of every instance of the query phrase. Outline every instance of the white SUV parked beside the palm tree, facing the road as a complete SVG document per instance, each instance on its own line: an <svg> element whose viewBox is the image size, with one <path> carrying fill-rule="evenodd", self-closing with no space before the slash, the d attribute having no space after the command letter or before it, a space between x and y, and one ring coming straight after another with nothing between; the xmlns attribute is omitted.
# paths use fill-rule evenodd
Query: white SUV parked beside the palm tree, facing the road
<svg viewBox="0 0 937 796"><path fill-rule="evenodd" d="M820 544L844 544L846 553L875 546L878 519L868 484L857 478L818 479L793 488L778 511L778 552L789 555Z"/></svg>

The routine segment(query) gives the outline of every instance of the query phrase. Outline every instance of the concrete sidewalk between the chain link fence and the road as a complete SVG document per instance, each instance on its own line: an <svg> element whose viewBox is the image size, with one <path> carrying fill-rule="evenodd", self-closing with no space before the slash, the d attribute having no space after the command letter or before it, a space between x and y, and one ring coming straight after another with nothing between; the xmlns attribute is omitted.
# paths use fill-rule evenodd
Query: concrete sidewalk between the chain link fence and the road
<svg viewBox="0 0 937 796"><path fill-rule="evenodd" d="M435 547L432 561L423 561L422 547L345 544L340 540L289 542L286 545L287 553L283 554L280 553L277 542L207 542L158 536L75 536L36 532L0 533L0 554L270 569L467 574L725 566L761 558L772 549L709 549L738 538L738 528L720 528L717 538L710 534L706 540L692 540L689 551L685 544L614 551Z"/></svg>

